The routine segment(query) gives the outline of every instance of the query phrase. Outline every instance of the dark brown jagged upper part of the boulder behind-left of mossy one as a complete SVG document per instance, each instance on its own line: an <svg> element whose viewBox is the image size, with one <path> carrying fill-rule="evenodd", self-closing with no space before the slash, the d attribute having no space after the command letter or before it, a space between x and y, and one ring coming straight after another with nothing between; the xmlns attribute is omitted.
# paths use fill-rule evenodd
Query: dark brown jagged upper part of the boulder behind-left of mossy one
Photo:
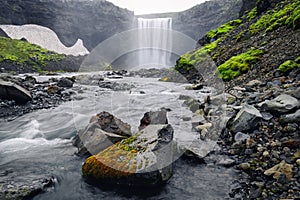
<svg viewBox="0 0 300 200"><path fill-rule="evenodd" d="M93 116L90 123L96 123L100 129L108 133L114 133L120 136L131 136L131 127L129 124L122 122L117 117L108 112L101 112Z"/></svg>

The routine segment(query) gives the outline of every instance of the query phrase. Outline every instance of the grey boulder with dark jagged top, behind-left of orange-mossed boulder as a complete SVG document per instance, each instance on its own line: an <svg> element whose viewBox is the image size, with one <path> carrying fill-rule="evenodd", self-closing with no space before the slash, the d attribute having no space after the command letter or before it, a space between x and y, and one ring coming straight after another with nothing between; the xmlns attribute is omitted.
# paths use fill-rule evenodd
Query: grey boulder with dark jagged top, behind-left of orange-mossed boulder
<svg viewBox="0 0 300 200"><path fill-rule="evenodd" d="M95 155L107 147L131 136L131 127L108 112L93 116L85 130L73 139L77 155Z"/></svg>

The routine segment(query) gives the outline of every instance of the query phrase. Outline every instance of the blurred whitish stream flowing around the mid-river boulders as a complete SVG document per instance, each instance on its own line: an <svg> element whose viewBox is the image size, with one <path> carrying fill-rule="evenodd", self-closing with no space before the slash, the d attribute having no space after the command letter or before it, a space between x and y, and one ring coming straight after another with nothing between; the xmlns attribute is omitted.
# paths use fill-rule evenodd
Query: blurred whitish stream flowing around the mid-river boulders
<svg viewBox="0 0 300 200"><path fill-rule="evenodd" d="M37 77L43 79L44 77ZM93 85L75 84L74 100L60 106L23 115L14 121L0 122L0 171L9 172L10 181L55 177L55 184L34 199L226 199L233 178L232 169L178 159L170 182L158 190L104 189L94 187L81 176L84 158L74 155L71 138L84 128L90 117L108 111L137 130L139 120L150 110L168 108L175 140L196 140L190 121L192 113L182 106L180 94L202 99L201 92L185 90L186 84L159 82L153 78L112 80L132 84L130 91L112 91ZM214 144L200 144L212 150ZM4 177L0 176L0 182Z"/></svg>

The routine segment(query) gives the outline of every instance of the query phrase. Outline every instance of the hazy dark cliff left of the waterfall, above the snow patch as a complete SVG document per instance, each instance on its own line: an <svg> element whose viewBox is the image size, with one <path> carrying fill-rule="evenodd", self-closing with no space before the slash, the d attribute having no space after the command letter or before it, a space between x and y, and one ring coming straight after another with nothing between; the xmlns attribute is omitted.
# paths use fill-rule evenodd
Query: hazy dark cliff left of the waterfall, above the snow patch
<svg viewBox="0 0 300 200"><path fill-rule="evenodd" d="M131 28L133 20L133 12L104 0L3 0L0 4L0 24L45 26L66 46L81 38L89 50Z"/></svg>

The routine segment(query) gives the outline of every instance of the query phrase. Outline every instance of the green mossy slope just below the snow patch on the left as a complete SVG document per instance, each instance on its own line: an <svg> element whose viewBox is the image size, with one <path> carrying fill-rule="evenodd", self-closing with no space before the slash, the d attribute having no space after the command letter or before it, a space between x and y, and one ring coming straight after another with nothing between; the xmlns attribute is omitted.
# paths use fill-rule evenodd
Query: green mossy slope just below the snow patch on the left
<svg viewBox="0 0 300 200"><path fill-rule="evenodd" d="M27 64L40 72L50 61L63 60L65 55L48 51L26 41L0 37L0 62L9 61L19 65Z"/></svg>

